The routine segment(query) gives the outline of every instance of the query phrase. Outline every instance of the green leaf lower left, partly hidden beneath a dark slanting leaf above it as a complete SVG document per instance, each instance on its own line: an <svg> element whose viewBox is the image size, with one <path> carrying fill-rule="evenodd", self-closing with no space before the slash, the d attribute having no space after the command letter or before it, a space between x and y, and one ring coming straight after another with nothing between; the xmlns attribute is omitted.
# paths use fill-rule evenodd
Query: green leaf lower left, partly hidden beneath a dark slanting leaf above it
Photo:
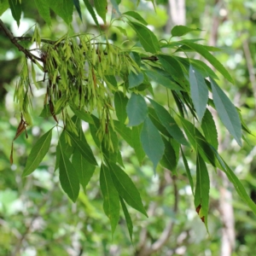
<svg viewBox="0 0 256 256"><path fill-rule="evenodd" d="M87 160L85 160L77 148L73 153L72 165L79 175L79 182L85 193L86 186L90 182L90 178L92 177L96 166L91 165Z"/></svg>

